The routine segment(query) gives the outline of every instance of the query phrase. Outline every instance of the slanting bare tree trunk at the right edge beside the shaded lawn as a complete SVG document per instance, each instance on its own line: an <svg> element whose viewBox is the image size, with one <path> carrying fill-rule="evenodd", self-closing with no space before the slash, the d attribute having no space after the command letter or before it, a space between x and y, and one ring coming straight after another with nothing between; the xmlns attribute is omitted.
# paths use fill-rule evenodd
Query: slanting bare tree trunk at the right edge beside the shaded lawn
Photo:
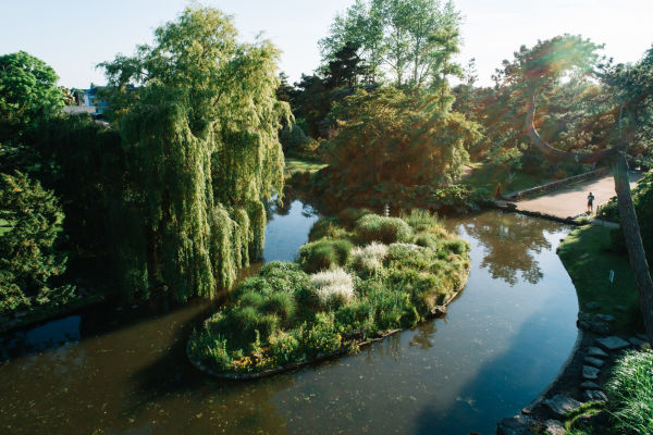
<svg viewBox="0 0 653 435"><path fill-rule="evenodd" d="M613 176L615 177L615 190L617 191L617 206L619 208L621 229L624 231L630 266L632 268L634 282L637 283L644 326L646 327L649 340L653 343L653 281L651 281L644 245L642 244L639 223L632 203L632 195L630 194L626 157L619 153L611 163Z"/></svg>

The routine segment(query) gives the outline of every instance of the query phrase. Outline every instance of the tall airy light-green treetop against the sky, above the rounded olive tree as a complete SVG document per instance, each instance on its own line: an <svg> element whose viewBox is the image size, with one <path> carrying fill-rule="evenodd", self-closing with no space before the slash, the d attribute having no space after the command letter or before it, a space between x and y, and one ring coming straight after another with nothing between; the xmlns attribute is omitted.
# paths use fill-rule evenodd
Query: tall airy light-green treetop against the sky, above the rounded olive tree
<svg viewBox="0 0 653 435"><path fill-rule="evenodd" d="M354 44L372 79L387 73L397 86L440 88L447 76L461 73L452 60L459 26L451 1L358 0L335 17L320 47L326 63L345 44Z"/></svg>

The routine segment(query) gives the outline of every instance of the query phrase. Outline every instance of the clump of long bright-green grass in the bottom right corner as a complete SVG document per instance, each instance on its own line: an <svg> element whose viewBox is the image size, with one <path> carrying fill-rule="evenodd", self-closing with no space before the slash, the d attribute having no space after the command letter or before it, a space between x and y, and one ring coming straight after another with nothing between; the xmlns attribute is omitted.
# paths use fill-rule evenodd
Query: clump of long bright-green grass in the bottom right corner
<svg viewBox="0 0 653 435"><path fill-rule="evenodd" d="M628 351L621 357L606 391L615 428L628 434L653 433L653 351Z"/></svg>

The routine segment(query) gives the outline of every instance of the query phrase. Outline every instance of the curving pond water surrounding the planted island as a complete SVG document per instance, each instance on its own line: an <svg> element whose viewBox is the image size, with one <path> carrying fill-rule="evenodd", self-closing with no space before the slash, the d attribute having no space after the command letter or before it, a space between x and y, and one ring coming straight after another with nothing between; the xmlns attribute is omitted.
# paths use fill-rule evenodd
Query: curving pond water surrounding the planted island
<svg viewBox="0 0 653 435"><path fill-rule="evenodd" d="M274 210L264 258L291 260L317 219ZM555 248L569 227L488 211L446 222L472 270L446 319L361 352L254 382L195 371L184 347L210 312L125 307L0 338L3 434L493 434L556 375L578 303Z"/></svg>

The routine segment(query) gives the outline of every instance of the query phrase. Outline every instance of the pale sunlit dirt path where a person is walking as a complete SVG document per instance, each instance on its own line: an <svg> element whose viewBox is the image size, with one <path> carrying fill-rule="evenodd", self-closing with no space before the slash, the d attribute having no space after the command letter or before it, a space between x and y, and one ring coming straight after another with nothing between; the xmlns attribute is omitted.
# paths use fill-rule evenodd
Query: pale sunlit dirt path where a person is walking
<svg viewBox="0 0 653 435"><path fill-rule="evenodd" d="M641 173L628 173L630 188L642 177ZM518 210L537 211L558 217L574 217L587 211L588 195L594 195L594 211L596 206L606 202L615 194L615 182L611 175L588 182L577 183L568 187L552 191L541 197L518 201Z"/></svg>

